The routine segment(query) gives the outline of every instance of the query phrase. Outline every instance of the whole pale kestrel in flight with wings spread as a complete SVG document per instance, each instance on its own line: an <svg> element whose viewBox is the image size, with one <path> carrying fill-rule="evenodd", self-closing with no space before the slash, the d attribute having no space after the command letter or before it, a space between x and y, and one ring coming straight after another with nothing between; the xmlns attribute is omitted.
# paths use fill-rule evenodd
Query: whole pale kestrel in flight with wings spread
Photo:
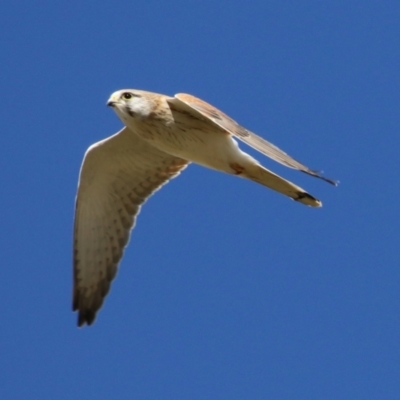
<svg viewBox="0 0 400 400"><path fill-rule="evenodd" d="M72 304L78 326L94 322L143 203L188 164L249 179L321 207L320 200L243 152L238 139L287 167L337 185L193 95L122 89L107 105L124 127L87 149L79 173Z"/></svg>

